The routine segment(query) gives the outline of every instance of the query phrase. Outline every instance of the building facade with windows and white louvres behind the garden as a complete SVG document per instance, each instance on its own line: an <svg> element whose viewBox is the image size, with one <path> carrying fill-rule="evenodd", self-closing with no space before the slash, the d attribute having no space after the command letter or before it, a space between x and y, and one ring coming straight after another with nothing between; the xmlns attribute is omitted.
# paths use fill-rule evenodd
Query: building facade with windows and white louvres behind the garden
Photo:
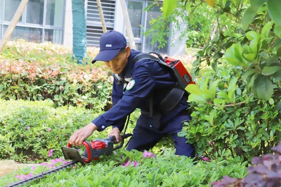
<svg viewBox="0 0 281 187"><path fill-rule="evenodd" d="M0 38L3 37L21 0L0 0ZM178 41L175 35L167 37L168 44L158 49L158 44L151 44L152 38L143 35L149 30L149 21L156 19L162 12L154 6L149 12L143 9L153 0L126 0L128 14L137 50L143 52L158 51L168 55L181 55L185 52L185 40ZM107 30L116 30L125 35L126 26L118 0L101 0L103 15ZM103 34L96 0L85 0L87 21L87 46L99 47L99 37ZM167 25L170 30L173 24ZM184 26L182 26L184 29ZM171 32L171 31L170 31ZM10 40L24 38L33 42L50 41L52 43L72 45L72 3L71 0L29 0L22 16L13 31ZM172 44L173 43L173 44Z"/></svg>

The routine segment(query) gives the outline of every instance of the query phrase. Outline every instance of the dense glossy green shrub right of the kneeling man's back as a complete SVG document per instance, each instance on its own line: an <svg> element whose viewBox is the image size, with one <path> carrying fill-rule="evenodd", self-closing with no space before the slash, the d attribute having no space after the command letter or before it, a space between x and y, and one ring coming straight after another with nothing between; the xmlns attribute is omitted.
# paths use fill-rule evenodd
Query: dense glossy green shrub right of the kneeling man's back
<svg viewBox="0 0 281 187"><path fill-rule="evenodd" d="M207 71L198 79L198 95L201 92L206 97L219 97L215 103L189 97L192 120L184 123L178 135L196 145L198 156L250 161L254 156L272 152L271 148L281 140L280 82L273 79L272 101L249 98L241 78L244 71L241 67L222 65L216 72ZM220 106L228 97L234 98L235 104L242 103Z"/></svg>

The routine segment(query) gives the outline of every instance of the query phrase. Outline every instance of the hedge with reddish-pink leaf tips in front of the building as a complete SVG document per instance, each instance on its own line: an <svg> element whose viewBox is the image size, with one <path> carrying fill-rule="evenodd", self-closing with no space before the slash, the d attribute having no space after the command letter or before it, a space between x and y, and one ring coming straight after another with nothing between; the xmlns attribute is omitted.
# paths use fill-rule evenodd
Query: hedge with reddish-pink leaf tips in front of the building
<svg viewBox="0 0 281 187"><path fill-rule="evenodd" d="M110 71L96 64L77 64L71 51L65 51L63 46L21 41L13 44L0 55L0 98L51 99L55 106L110 108ZM89 55L88 61L91 58Z"/></svg>

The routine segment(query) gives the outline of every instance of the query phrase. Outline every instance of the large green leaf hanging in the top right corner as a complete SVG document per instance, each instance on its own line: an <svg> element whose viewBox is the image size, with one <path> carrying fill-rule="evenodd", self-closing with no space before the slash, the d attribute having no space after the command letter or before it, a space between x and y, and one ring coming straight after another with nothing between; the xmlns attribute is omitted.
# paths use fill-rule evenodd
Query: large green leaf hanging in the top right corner
<svg viewBox="0 0 281 187"><path fill-rule="evenodd" d="M267 2L268 15L274 21L277 26L281 26L281 1L280 0L269 0Z"/></svg>

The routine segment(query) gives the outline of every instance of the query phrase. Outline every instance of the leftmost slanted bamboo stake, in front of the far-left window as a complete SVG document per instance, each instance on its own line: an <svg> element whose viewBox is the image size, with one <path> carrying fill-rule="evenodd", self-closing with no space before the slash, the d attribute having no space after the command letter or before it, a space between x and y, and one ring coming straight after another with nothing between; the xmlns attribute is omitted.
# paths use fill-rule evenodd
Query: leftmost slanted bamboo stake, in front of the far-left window
<svg viewBox="0 0 281 187"><path fill-rule="evenodd" d="M17 8L17 11L15 12L13 19L11 20L7 30L5 31L3 38L0 41L0 51L2 51L3 47L7 43L8 40L10 40L10 37L12 35L12 32L14 31L17 22L19 22L19 19L21 18L22 12L24 8L26 7L26 4L28 3L28 0L21 0L21 3L19 4L19 7Z"/></svg>

